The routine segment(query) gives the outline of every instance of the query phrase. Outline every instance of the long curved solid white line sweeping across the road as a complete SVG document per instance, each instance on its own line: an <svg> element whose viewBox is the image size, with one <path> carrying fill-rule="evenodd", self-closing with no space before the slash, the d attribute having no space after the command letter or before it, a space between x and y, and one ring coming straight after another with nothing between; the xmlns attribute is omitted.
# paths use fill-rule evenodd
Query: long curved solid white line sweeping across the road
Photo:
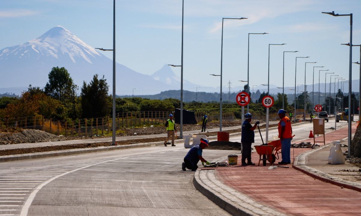
<svg viewBox="0 0 361 216"><path fill-rule="evenodd" d="M81 170L81 169L85 169L85 168L88 168L88 167L91 167L91 166L96 166L98 164L102 164L102 163L108 163L108 162L112 162L112 161L115 161L115 160L121 160L121 159L126 159L126 158L129 158L129 157L125 157L125 158L117 158L117 159L112 159L112 160L106 160L106 161L103 161L103 162L99 162L99 163L95 163L95 164L91 164L91 165L87 165L85 167L80 167L80 168L77 168L77 169L74 169L72 171L68 171L68 172L65 172L65 173L62 173L60 175L57 175L57 176L54 176L52 177L51 179L43 182L42 184L40 184L38 187L36 187L32 192L31 194L29 195L29 197L27 198L27 200L25 201L22 209L21 209L21 212L20 212L20 215L19 216L27 216L27 212L29 211L29 208L30 208L30 205L32 203L32 200L34 200L35 198L35 195L36 193L38 193L45 185L49 184L50 182L52 182L53 180L57 179L58 177L61 177L61 176L64 176L66 174L69 174L69 173L72 173L72 172L75 172L75 171L78 171L78 170ZM20 201L21 202L21 201Z"/></svg>

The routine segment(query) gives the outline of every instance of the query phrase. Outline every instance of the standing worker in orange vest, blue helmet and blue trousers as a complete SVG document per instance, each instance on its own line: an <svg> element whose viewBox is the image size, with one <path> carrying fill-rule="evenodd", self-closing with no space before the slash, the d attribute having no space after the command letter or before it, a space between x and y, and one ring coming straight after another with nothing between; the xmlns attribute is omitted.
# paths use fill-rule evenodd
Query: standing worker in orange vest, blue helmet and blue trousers
<svg viewBox="0 0 361 216"><path fill-rule="evenodd" d="M286 116L287 111L284 109L278 110L278 116L281 119L278 123L278 138L282 144L282 161L279 164L291 163L291 140L292 140L292 127L291 120Z"/></svg>

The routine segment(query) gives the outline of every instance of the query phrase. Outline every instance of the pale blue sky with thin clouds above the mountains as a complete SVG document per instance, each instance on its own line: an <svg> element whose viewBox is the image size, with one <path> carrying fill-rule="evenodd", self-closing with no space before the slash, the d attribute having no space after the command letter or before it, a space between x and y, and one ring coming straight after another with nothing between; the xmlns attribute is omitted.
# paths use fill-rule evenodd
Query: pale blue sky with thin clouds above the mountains
<svg viewBox="0 0 361 216"><path fill-rule="evenodd" d="M332 17L321 12L353 13L353 44L361 43L361 1L359 0L184 0L183 76L195 84L219 87L222 17L223 86L244 85L247 80L248 33L269 32L250 37L250 86L267 84L268 44L271 46L270 85L282 87L283 51L285 86L312 84L313 66L348 79L349 17ZM117 0L116 61L143 74L152 74L164 64L181 63L182 0ZM92 47L112 48L112 0L0 0L0 49L37 38L61 25ZM112 58L111 52L103 52ZM352 61L360 59L353 48ZM353 80L359 67L353 64ZM315 68L315 83L318 70ZM180 76L180 69L173 69ZM328 75L329 77L329 75ZM328 78L329 80L329 78ZM325 72L321 71L321 82ZM257 87L255 87L256 89ZM196 89L194 89L195 91ZM227 91L223 88L223 91Z"/></svg>

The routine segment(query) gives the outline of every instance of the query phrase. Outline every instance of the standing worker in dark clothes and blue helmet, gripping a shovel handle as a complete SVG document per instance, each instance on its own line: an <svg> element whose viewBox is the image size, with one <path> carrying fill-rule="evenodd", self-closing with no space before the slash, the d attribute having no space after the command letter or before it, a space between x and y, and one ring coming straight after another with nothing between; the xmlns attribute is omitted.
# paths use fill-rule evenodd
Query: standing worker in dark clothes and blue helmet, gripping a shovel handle
<svg viewBox="0 0 361 216"><path fill-rule="evenodd" d="M255 125L251 125L252 121L252 114L246 113L244 115L244 122L242 124L242 166L247 165L255 165L255 163L252 163L251 160L251 153L252 153L252 143L255 142L255 132L257 125L260 124L260 121L257 121ZM246 163L247 159L247 163Z"/></svg>

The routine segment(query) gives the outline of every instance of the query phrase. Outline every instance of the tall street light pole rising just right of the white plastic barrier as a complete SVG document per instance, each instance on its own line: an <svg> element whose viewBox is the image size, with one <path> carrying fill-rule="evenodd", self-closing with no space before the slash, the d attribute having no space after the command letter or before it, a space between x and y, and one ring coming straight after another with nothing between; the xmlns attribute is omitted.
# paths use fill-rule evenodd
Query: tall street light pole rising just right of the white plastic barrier
<svg viewBox="0 0 361 216"><path fill-rule="evenodd" d="M348 97L348 107L351 107L351 94L352 94L352 66L351 66L351 62L352 62L352 13L350 14L335 14L334 11L332 12L322 12L322 13L326 13L326 14L330 14L332 16L338 17L338 16L350 16L350 57L349 57L349 65L348 65L348 80L349 85L348 85L348 93L349 93L349 97ZM351 157L351 118L349 118L348 121L348 157Z"/></svg>

